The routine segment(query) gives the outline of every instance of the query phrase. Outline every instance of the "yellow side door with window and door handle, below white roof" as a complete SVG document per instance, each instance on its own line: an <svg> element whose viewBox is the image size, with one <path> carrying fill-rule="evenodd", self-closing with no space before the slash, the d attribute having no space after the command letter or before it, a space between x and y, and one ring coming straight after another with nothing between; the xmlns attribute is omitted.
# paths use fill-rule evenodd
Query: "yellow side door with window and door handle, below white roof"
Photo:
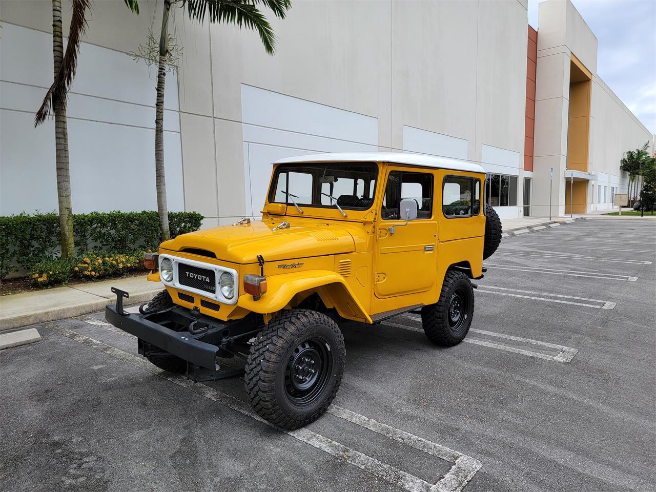
<svg viewBox="0 0 656 492"><path fill-rule="evenodd" d="M406 168L407 169L407 168ZM427 291L435 283L438 232L434 173L390 168L377 222L374 293L389 298ZM400 220L401 199L417 201L417 218Z"/></svg>

